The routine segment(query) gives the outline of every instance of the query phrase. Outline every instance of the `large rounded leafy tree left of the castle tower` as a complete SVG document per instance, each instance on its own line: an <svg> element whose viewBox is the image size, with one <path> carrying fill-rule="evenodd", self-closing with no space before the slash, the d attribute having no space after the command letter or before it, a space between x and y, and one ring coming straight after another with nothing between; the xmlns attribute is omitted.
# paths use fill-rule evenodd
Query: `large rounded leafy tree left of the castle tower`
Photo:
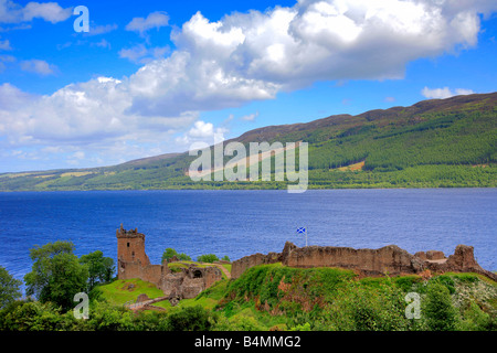
<svg viewBox="0 0 497 353"><path fill-rule="evenodd" d="M49 243L30 249L34 261L24 276L27 295L41 302L52 301L64 310L74 307L74 295L86 291L88 267L80 264L71 242Z"/></svg>

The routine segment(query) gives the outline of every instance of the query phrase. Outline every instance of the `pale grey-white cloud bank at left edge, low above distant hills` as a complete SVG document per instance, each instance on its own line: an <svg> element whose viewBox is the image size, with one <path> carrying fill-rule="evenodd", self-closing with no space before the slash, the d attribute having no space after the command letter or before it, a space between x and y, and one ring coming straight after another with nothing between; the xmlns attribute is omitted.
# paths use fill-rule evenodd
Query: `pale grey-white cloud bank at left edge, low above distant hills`
<svg viewBox="0 0 497 353"><path fill-rule="evenodd" d="M10 146L108 147L127 139L158 143L198 119L195 113L170 117L127 114L126 85L126 81L98 77L42 96L0 85L0 136Z"/></svg>

